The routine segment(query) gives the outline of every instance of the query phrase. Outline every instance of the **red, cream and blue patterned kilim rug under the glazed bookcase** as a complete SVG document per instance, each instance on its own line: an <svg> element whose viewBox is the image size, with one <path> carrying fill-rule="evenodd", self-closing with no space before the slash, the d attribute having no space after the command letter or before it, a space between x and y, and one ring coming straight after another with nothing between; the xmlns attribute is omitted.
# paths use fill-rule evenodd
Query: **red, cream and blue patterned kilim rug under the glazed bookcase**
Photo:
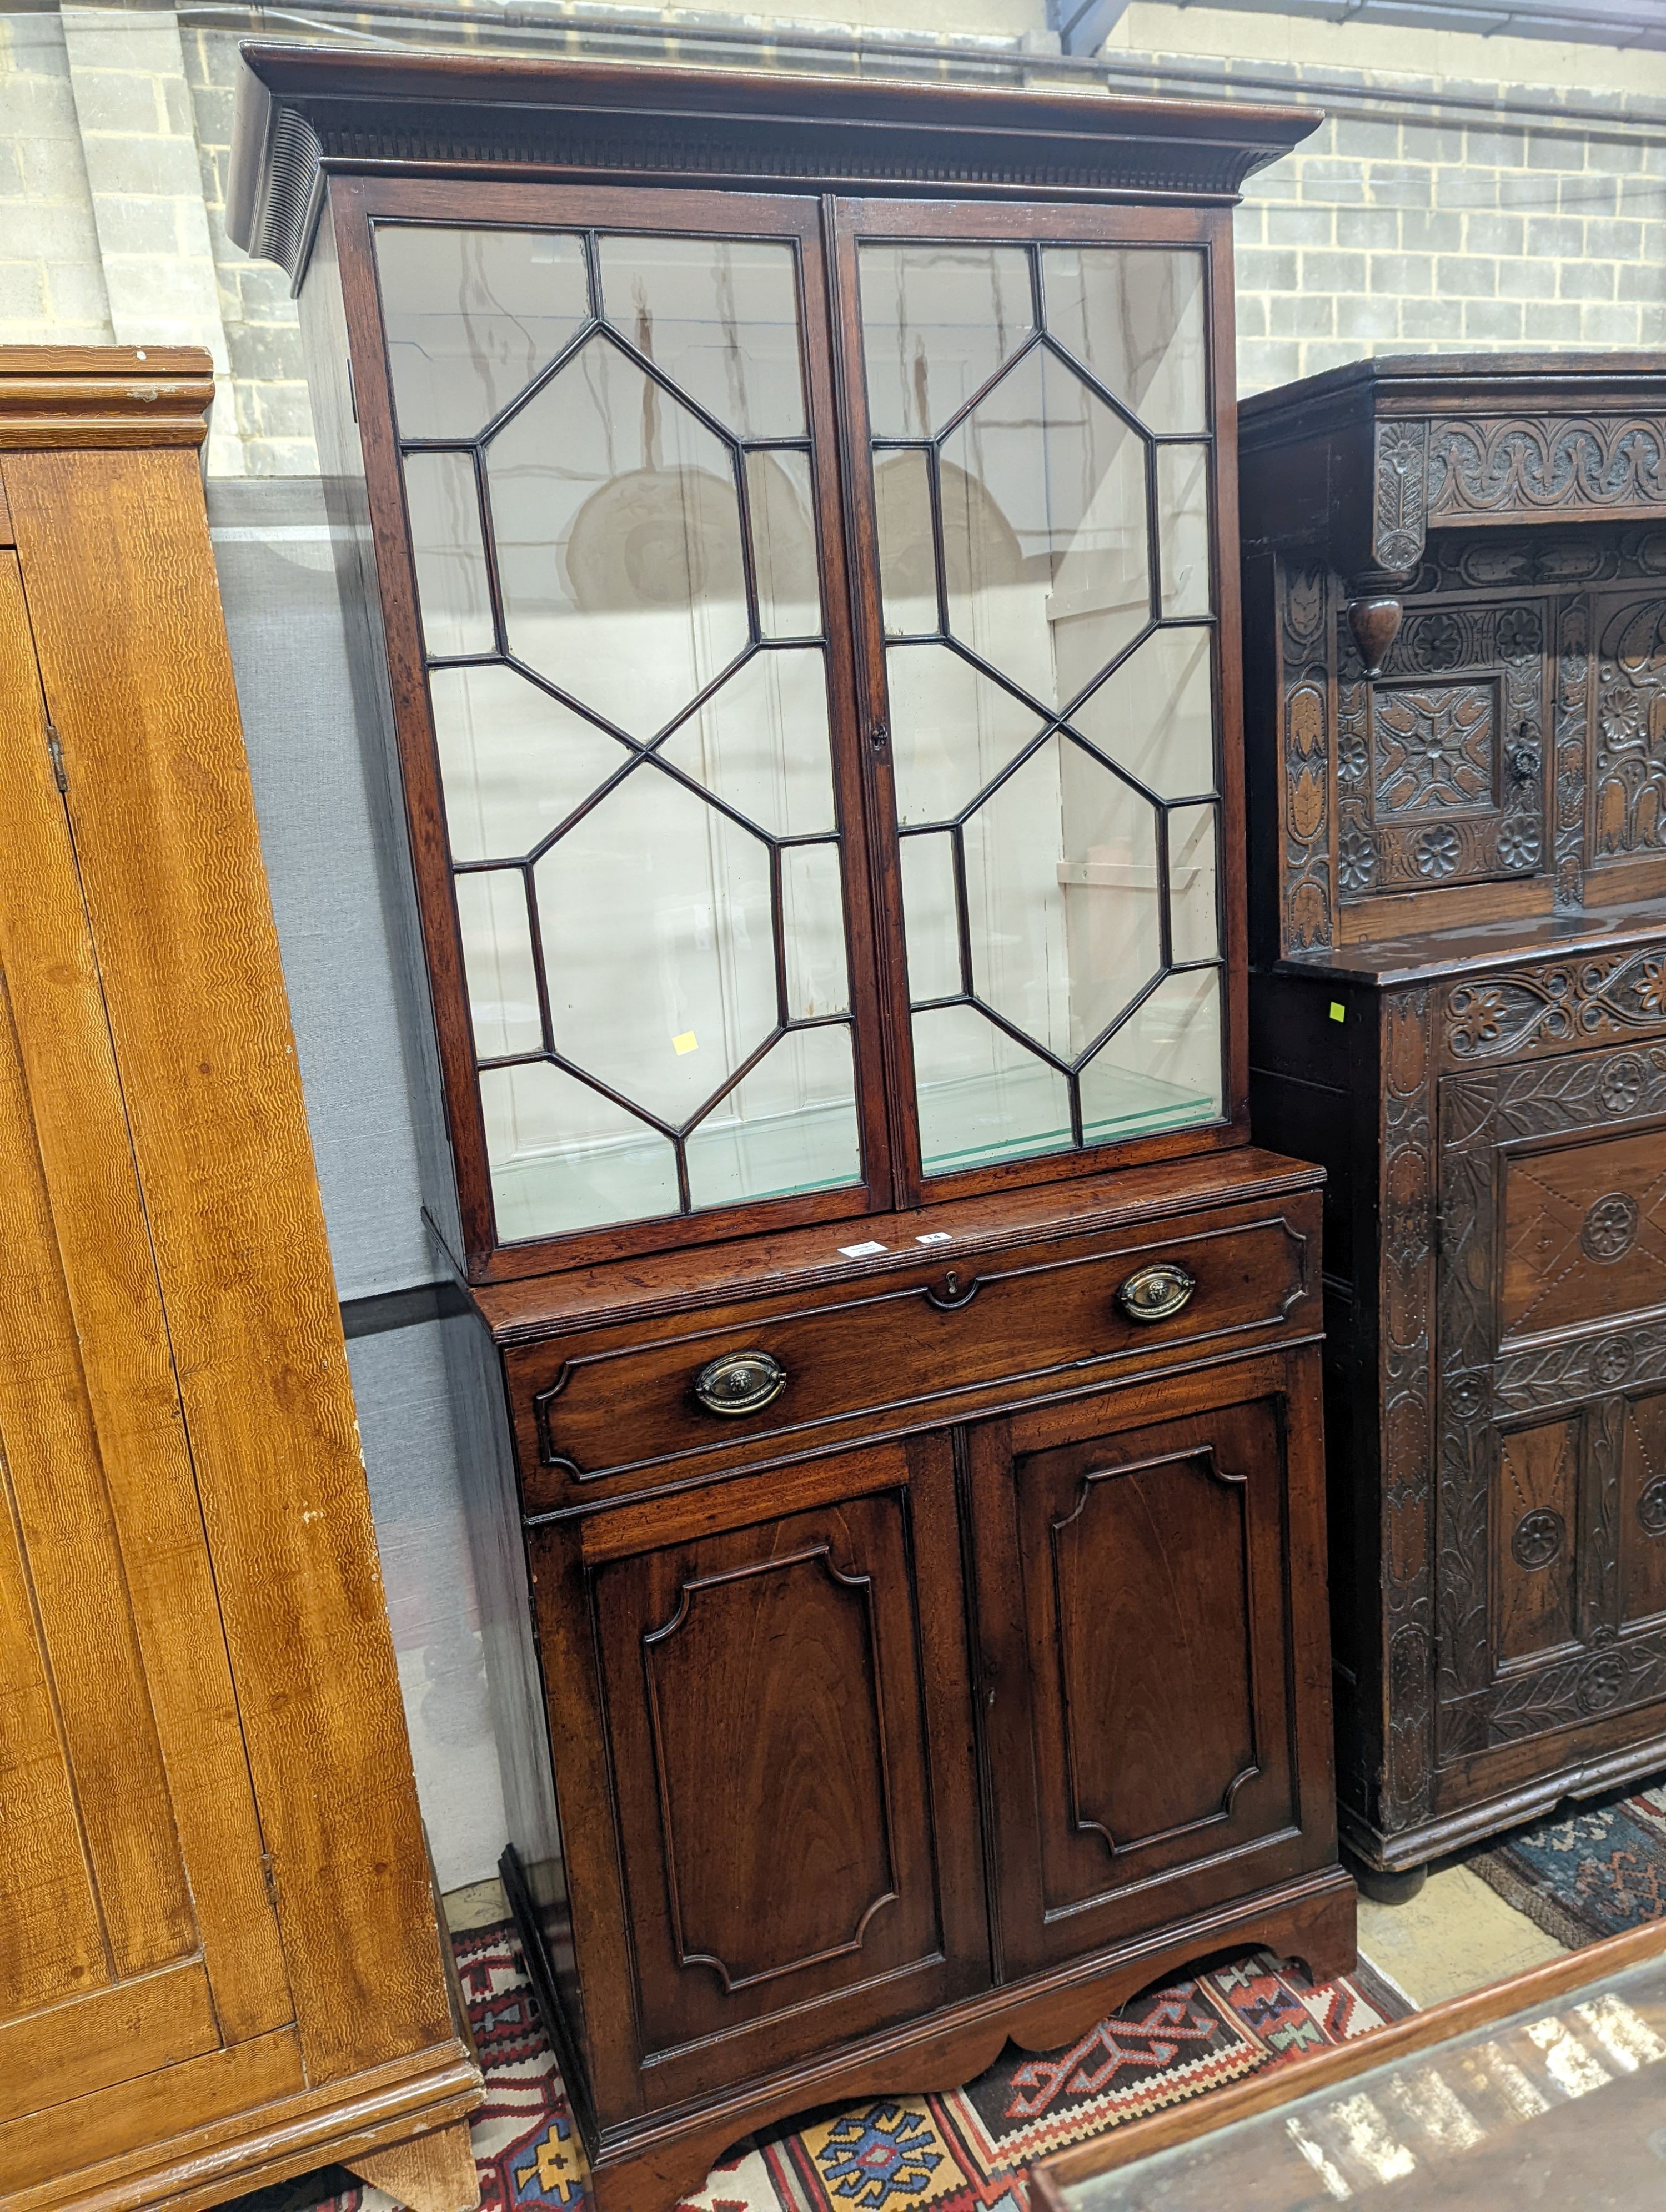
<svg viewBox="0 0 1666 2212"><path fill-rule="evenodd" d="M573 2119L520 1973L511 1927L456 1938L487 2075L473 2121L485 2212L586 2212ZM1064 2143L1398 2020L1370 1966L1314 1989L1266 1955L1148 1991L1066 2051L1007 2051L962 2090L876 2097L735 2148L693 2212L1024 2212L1022 2168ZM343 2168L239 2199L230 2212L376 2212Z"/></svg>

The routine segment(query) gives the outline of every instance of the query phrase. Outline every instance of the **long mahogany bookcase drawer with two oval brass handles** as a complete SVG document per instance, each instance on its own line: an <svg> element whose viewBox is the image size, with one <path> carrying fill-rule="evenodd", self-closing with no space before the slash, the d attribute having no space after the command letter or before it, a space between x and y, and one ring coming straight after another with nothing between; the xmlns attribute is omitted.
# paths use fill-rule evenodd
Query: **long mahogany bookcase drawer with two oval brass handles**
<svg viewBox="0 0 1666 2212"><path fill-rule="evenodd" d="M1077 1369L1139 1374L1199 1345L1288 1334L1319 1287L1316 1203L1246 1212L1190 1217L1170 1234L949 1252L801 1296L516 1347L527 1509L954 1420Z"/></svg>

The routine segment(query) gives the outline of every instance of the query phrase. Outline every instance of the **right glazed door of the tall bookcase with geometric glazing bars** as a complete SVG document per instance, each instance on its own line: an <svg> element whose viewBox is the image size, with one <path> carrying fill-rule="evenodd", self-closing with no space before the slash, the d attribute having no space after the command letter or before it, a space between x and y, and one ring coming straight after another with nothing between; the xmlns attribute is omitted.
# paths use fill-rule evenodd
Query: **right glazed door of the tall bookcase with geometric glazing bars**
<svg viewBox="0 0 1666 2212"><path fill-rule="evenodd" d="M1197 1150L1239 1093L1210 226L841 228L909 1166L931 1197Z"/></svg>

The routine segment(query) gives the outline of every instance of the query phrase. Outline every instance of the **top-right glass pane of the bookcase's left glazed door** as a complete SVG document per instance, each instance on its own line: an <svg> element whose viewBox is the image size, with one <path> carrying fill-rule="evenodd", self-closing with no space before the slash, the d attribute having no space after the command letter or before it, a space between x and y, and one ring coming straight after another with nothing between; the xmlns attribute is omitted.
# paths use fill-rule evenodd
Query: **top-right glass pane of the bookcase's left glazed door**
<svg viewBox="0 0 1666 2212"><path fill-rule="evenodd" d="M763 239L602 239L602 312L739 438L803 436L799 268Z"/></svg>

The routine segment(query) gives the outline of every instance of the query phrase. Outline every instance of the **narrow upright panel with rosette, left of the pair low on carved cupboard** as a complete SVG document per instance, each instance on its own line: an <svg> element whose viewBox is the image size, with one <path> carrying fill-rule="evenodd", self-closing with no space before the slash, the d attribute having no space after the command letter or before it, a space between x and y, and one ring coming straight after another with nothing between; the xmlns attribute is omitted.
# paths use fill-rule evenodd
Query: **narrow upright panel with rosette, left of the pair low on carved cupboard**
<svg viewBox="0 0 1666 2212"><path fill-rule="evenodd" d="M1580 1422L1498 1438L1493 1666L1573 1644L1578 1624Z"/></svg>

